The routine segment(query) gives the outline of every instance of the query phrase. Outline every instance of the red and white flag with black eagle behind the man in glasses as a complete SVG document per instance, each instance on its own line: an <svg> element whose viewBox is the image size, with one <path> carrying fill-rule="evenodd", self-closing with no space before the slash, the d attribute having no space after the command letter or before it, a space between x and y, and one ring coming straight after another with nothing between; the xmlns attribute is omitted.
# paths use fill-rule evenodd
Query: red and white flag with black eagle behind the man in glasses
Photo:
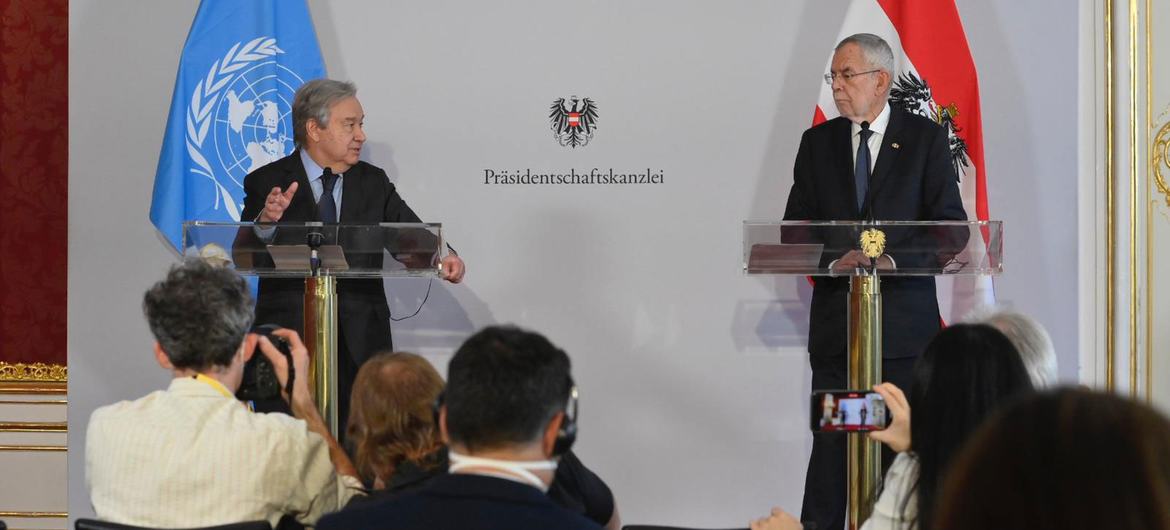
<svg viewBox="0 0 1170 530"><path fill-rule="evenodd" d="M970 220L986 221L987 177L983 165L983 119L979 81L954 0L853 0L837 42L872 33L894 50L890 101L948 128L951 156L959 175L963 207ZM831 70L832 53L825 71ZM813 124L839 116L833 89L821 84ZM879 154L880 157L880 154ZM975 232L972 239L986 238ZM987 241L968 245L972 259L984 259ZM957 278L957 280L956 280ZM955 280L955 281L952 281ZM943 276L938 302L945 322L956 322L975 307L994 303L989 276Z"/></svg>

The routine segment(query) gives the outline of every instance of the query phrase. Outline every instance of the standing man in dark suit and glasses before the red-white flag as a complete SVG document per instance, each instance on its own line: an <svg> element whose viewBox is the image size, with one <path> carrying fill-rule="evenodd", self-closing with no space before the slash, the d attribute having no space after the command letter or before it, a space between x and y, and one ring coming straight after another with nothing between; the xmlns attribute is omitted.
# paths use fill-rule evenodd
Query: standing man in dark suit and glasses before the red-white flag
<svg viewBox="0 0 1170 530"><path fill-rule="evenodd" d="M862 220L867 209L876 220L966 220L947 131L889 105L893 68L893 51L876 35L852 35L837 46L825 81L841 116L801 137L785 220ZM944 243L965 243L965 236L949 235ZM931 267L934 255L899 254L897 242L887 242L878 269ZM823 261L841 275L872 264L861 250ZM808 323L813 390L846 387L848 291L848 277L815 280ZM908 388L914 360L940 328L935 280L885 278L881 291L882 379ZM845 525L845 446L840 434L813 434L800 518L818 530Z"/></svg>

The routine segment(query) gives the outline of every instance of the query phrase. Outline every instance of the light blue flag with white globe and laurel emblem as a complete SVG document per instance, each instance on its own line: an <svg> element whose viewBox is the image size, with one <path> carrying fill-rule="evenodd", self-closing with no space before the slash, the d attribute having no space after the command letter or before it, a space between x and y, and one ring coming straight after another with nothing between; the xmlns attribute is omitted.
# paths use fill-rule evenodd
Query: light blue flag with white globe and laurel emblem
<svg viewBox="0 0 1170 530"><path fill-rule="evenodd" d="M240 220L243 177L292 152L292 95L324 76L304 0L199 4L150 205L180 254L184 221Z"/></svg>

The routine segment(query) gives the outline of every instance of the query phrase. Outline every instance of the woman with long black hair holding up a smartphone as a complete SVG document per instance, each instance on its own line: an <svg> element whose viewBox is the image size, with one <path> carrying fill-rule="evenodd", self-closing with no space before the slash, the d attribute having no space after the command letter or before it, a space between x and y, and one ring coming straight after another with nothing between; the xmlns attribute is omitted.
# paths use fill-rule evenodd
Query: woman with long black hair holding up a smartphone
<svg viewBox="0 0 1170 530"><path fill-rule="evenodd" d="M938 488L963 443L997 407L1033 387L1004 333L985 324L956 324L935 336L915 363L909 400L889 383L874 390L894 420L869 436L899 454L861 528L931 530L941 528L934 524ZM752 530L800 529L782 524L775 512L752 523Z"/></svg>

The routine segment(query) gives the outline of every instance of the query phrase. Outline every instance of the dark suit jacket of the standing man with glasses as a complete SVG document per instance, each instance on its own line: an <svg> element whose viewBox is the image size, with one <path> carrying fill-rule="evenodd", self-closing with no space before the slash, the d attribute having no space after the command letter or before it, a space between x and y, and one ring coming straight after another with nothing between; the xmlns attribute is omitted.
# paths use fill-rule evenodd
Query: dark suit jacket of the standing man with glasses
<svg viewBox="0 0 1170 530"><path fill-rule="evenodd" d="M785 220L863 219L856 204L851 135L849 121L844 117L805 131ZM890 108L869 183L876 220L966 220L947 131L930 119ZM962 248L965 242L964 236L951 245ZM888 236L887 252L899 267L923 266L917 262L921 256L899 256L896 247L897 241ZM837 257L825 256L825 263ZM814 366L818 360L844 359L846 355L848 291L848 278L815 280L808 321L808 355ZM889 277L882 280L881 292L883 357L917 357L940 326L935 280Z"/></svg>

